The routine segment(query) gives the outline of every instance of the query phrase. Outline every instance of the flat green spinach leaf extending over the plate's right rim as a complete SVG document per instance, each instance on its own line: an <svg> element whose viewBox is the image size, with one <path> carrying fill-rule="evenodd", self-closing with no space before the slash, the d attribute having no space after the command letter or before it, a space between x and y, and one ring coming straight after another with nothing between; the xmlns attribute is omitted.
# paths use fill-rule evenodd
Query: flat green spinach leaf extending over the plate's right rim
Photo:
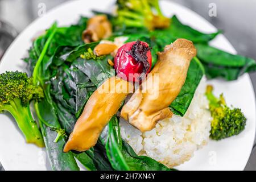
<svg viewBox="0 0 256 182"><path fill-rule="evenodd" d="M243 73L256 71L256 62L249 57L232 55L207 44L196 44L197 56L205 67L207 78L237 80Z"/></svg>

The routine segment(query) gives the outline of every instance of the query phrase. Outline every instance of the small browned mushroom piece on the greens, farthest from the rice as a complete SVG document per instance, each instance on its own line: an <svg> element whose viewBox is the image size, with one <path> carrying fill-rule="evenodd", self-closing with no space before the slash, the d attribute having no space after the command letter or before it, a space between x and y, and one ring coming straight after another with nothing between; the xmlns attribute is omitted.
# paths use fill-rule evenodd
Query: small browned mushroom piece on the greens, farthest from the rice
<svg viewBox="0 0 256 182"><path fill-rule="evenodd" d="M106 39L112 34L112 26L106 15L96 15L88 20L87 28L82 32L85 43Z"/></svg>

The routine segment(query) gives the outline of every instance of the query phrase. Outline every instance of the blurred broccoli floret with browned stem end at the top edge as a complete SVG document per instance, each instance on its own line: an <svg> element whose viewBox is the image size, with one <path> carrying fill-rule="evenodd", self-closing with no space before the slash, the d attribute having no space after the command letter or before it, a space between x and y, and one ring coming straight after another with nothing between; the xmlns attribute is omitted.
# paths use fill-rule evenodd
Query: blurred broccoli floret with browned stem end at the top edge
<svg viewBox="0 0 256 182"><path fill-rule="evenodd" d="M126 27L166 28L170 19L160 10L158 0L117 0L117 24Z"/></svg>

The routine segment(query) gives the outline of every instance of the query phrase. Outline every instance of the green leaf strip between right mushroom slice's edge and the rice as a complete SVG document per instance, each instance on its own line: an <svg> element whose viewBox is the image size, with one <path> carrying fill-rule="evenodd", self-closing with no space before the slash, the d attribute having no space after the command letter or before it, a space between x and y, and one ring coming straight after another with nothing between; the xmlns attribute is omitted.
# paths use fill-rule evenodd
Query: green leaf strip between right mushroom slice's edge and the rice
<svg viewBox="0 0 256 182"><path fill-rule="evenodd" d="M193 96L196 92L196 88L199 85L201 78L204 75L204 67L200 61L194 57L189 65L187 78L182 86L179 95L170 105L170 109L176 115L183 116L187 111Z"/></svg>

